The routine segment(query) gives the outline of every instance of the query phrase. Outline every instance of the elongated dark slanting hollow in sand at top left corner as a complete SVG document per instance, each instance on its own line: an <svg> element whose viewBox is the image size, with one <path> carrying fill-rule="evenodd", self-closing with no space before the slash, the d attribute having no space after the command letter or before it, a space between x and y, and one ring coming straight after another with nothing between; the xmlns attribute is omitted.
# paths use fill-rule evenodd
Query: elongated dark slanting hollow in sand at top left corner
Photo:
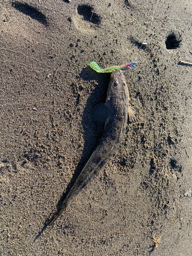
<svg viewBox="0 0 192 256"><path fill-rule="evenodd" d="M22 12L28 16L30 16L33 19L36 19L37 22L44 24L45 26L48 25L47 23L47 17L42 14L39 10L36 8L26 4L26 3L19 3L19 2L13 2L12 6L18 10L19 12Z"/></svg>

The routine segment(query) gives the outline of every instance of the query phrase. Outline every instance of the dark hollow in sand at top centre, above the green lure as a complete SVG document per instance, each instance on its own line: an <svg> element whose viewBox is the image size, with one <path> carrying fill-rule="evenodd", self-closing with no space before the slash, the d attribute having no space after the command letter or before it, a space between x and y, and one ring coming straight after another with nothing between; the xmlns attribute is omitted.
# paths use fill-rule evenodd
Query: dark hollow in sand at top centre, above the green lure
<svg viewBox="0 0 192 256"><path fill-rule="evenodd" d="M79 15L83 16L84 20L91 22L93 24L99 25L101 22L100 16L94 12L94 8L88 5L79 5L77 7L77 12Z"/></svg>

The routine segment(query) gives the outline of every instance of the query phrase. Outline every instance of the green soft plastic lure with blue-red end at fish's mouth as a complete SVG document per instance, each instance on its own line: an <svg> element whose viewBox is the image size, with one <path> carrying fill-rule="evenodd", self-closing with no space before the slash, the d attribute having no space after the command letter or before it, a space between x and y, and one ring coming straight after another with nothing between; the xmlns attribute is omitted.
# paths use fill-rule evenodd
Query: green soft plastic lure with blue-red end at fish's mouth
<svg viewBox="0 0 192 256"><path fill-rule="evenodd" d="M121 66L114 66L114 67L109 67L106 69L100 69L98 64L95 61L92 61L90 63L90 67L93 70L97 71L98 73L112 73L114 70L121 70L123 73L126 70L129 70L129 69L135 67L135 65L137 65L137 60L135 60L134 62L126 63L125 65L121 65Z"/></svg>

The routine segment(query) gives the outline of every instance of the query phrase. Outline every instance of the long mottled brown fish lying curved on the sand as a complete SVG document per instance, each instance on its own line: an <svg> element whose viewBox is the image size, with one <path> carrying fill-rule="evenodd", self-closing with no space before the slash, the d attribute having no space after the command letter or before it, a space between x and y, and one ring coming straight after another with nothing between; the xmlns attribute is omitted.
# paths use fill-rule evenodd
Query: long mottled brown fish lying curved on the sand
<svg viewBox="0 0 192 256"><path fill-rule="evenodd" d="M128 115L130 121L134 120L134 114L129 106L129 100L129 90L124 75L120 70L113 71L105 101L105 104L109 109L109 115L105 121L99 144L48 225L52 225L55 222L66 209L69 201L72 200L95 175L97 175L99 170L115 152L123 137Z"/></svg>

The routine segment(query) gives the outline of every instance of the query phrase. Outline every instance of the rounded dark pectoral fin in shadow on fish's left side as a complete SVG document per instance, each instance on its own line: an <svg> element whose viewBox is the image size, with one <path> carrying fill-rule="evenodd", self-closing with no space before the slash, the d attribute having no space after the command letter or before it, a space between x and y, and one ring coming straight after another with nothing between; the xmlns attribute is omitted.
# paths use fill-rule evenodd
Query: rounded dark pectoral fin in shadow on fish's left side
<svg viewBox="0 0 192 256"><path fill-rule="evenodd" d="M93 120L99 126L104 125L106 118L108 118L108 116L109 116L109 109L105 103L100 103L93 109L93 112L92 112Z"/></svg>

